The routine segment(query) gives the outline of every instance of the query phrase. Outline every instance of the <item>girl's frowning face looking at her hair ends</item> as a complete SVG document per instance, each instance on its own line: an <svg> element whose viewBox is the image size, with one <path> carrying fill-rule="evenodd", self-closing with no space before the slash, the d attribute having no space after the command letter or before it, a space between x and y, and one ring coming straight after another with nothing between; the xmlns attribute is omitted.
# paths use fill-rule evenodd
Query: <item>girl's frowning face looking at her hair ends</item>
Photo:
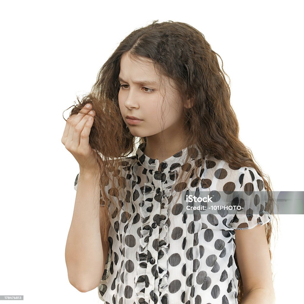
<svg viewBox="0 0 304 304"><path fill-rule="evenodd" d="M130 59L125 53L120 61L118 101L123 120L133 136L154 137L163 132L164 138L169 139L181 135L184 122L180 95L164 77L161 87L152 62L141 59L143 61ZM140 121L128 119L128 116Z"/></svg>

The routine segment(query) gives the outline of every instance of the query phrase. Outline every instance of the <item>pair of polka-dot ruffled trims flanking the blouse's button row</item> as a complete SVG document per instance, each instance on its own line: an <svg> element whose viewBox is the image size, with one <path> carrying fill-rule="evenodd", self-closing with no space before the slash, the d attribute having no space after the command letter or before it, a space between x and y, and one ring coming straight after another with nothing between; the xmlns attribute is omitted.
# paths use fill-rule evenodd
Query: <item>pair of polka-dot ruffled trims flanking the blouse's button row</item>
<svg viewBox="0 0 304 304"><path fill-rule="evenodd" d="M169 174L170 173L170 174ZM160 209L160 223L159 223L159 249L158 252L162 251L163 256L157 261L158 263L158 277L159 277L159 301L162 297L168 294L168 224L167 219L169 216L169 200L171 196L172 185L176 180L177 171L169 172L166 175L166 180L164 181L164 189L162 192L162 202L164 204L163 208ZM174 174L174 180L171 180L170 176ZM148 243L150 237L150 231L153 229L150 226L150 215L153 208L153 198L155 186L153 184L153 170L147 171L147 183L144 185L143 195L144 200L140 203L140 212L142 214L142 223L141 223L141 237L140 237L140 246L137 252L137 261L139 262L137 268L137 275L135 277L135 291L136 291L136 303L145 303L145 288L146 278L147 278L147 260L148 255ZM151 283L151 282L149 282ZM168 295L167 295L168 297ZM150 296L149 300L150 301ZM147 302L147 301L146 301ZM149 303L149 302L148 302Z"/></svg>

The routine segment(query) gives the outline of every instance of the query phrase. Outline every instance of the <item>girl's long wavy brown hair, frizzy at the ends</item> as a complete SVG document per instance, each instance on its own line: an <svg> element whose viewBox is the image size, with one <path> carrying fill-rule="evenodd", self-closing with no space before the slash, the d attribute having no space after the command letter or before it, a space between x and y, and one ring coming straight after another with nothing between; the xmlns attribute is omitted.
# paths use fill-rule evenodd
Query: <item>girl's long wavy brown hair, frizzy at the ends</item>
<svg viewBox="0 0 304 304"><path fill-rule="evenodd" d="M101 189L100 202L101 206L105 208L109 207L106 202L115 206L114 215L107 213L104 229L109 224L109 217L116 216L123 206L124 202L119 198L123 197L125 202L130 202L131 199L130 191L125 189L127 181L120 174L121 170L130 168L122 158L128 157L130 154L134 157L136 143L146 141L146 137L140 137L136 142L138 138L130 133L119 110L120 60L127 52L134 59L150 60L154 64L155 71L171 79L184 105L190 98L192 106L184 107L185 130L188 134L185 146L196 143L202 156L209 154L219 160L224 160L232 169L243 166L256 169L268 192L267 211L274 215L271 204L273 202L271 181L254 161L251 150L239 139L239 124L230 105L230 78L223 70L222 58L211 49L204 35L192 26L171 20L161 23L155 20L145 27L135 29L123 39L101 67L91 92L85 95L81 101L77 97L78 104L74 105L70 113L70 116L77 114L86 103L91 103L95 110L89 143L95 151L101 173L98 181ZM217 56L222 61L221 68ZM260 131L262 132L262 130ZM196 156L193 155L196 151L195 149L190 150L186 163L188 159ZM204 161L203 158L201 161ZM200 164L196 164L196 168L199 166ZM183 167L181 175L178 177L180 182L176 183L174 188L175 192L179 192L179 194L181 188L184 189L181 187L184 174L188 174L185 181L196 174L195 182L203 182L200 178L201 174L195 168ZM265 229L271 258L272 223L265 224ZM105 239L106 235L103 233ZM236 255L234 258L237 264ZM240 275L239 303L243 296L243 283Z"/></svg>

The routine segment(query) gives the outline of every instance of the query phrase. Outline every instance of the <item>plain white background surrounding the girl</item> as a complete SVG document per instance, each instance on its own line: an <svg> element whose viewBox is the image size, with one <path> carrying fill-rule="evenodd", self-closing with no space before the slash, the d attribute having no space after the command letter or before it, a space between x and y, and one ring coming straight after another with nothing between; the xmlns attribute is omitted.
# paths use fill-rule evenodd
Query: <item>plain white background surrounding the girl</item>
<svg viewBox="0 0 304 304"><path fill-rule="evenodd" d="M89 92L120 41L153 20L205 35L231 78L240 139L275 191L303 190L300 1L109 3L1 2L0 295L24 303L102 303L97 288L81 293L67 278L78 163L61 143L62 113ZM280 216L273 238L277 303L300 299L302 220Z"/></svg>

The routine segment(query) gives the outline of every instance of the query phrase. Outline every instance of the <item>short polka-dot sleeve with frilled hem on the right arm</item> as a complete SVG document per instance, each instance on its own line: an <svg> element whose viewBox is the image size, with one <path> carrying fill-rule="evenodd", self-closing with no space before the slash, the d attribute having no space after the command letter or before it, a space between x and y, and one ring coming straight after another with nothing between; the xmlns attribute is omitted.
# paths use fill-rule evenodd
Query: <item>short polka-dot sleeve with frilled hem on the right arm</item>
<svg viewBox="0 0 304 304"><path fill-rule="evenodd" d="M233 210L233 218L229 223L229 226L236 230L262 226L273 218L272 214L265 210L268 194L263 179L254 168L242 167L242 169L238 179L240 190L236 189L239 198L238 208Z"/></svg>

